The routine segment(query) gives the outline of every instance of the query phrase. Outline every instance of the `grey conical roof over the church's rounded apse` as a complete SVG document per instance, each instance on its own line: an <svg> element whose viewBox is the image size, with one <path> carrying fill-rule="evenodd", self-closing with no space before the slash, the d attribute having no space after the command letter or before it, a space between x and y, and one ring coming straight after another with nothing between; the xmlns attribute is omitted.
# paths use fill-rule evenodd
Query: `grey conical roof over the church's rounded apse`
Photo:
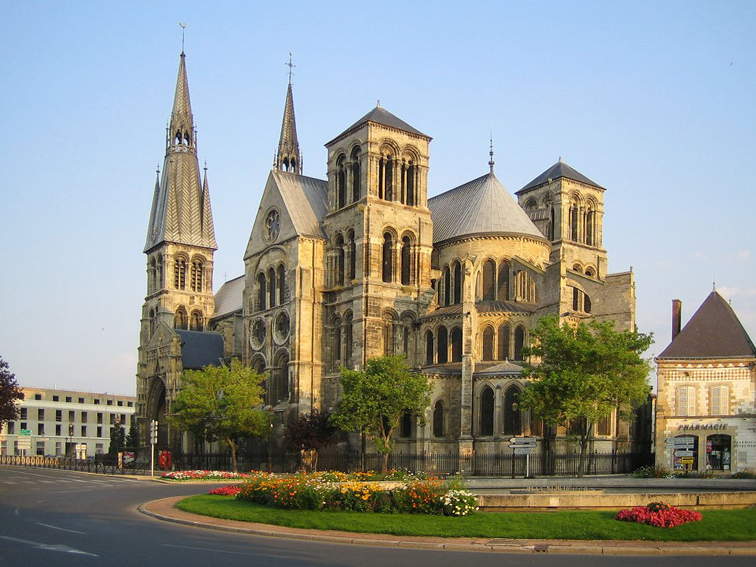
<svg viewBox="0 0 756 567"><path fill-rule="evenodd" d="M428 200L433 243L468 234L525 234L544 239L493 172Z"/></svg>

